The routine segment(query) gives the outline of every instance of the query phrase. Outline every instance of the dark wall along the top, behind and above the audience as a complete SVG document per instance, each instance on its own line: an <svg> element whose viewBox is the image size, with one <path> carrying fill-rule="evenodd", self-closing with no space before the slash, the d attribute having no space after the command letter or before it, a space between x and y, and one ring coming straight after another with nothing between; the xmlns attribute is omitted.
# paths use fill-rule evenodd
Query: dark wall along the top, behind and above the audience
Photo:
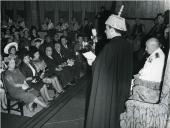
<svg viewBox="0 0 170 128"><path fill-rule="evenodd" d="M154 1L2 1L1 19L17 19L20 15L27 25L39 26L44 18L49 16L54 24L60 17L70 21L75 17L80 23L85 17L94 22L95 15L101 6L117 13L121 5L125 5L122 16L126 17L129 25L135 18L141 18L146 28L153 24L153 18L169 8L169 0ZM147 30L146 30L147 31Z"/></svg>

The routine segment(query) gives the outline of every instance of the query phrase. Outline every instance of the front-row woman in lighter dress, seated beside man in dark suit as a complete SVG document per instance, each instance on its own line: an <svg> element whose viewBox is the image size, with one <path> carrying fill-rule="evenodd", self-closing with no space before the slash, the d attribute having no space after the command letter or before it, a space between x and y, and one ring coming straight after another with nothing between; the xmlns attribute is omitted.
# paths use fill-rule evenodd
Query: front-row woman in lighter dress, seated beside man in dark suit
<svg viewBox="0 0 170 128"><path fill-rule="evenodd" d="M36 47L32 47L30 53L32 57L32 62L35 65L36 70L39 73L39 76L41 77L42 81L47 84L52 84L56 91L56 95L58 95L58 93L64 92L58 81L58 78L48 72L47 65L40 57L39 50Z"/></svg>

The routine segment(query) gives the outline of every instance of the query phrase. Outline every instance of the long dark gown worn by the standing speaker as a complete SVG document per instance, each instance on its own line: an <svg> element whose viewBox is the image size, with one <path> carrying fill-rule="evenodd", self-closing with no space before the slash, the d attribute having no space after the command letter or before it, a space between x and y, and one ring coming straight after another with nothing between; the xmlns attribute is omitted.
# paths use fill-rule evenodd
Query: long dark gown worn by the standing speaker
<svg viewBox="0 0 170 128"><path fill-rule="evenodd" d="M119 128L120 113L129 97L132 77L132 47L114 37L97 56L86 128Z"/></svg>

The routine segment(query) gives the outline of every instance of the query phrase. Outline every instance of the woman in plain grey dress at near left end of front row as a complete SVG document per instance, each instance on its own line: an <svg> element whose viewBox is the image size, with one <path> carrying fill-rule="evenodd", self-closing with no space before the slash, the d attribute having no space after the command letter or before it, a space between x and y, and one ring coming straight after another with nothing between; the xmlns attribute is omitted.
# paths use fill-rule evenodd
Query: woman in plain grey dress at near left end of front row
<svg viewBox="0 0 170 128"><path fill-rule="evenodd" d="M47 107L47 104L40 101L35 93L35 90L27 90L29 86L25 81L25 77L15 68L15 60L11 58L8 62L8 70L5 72L4 81L7 89L13 98L25 102L28 105L30 111L33 110L32 104L37 103L43 108Z"/></svg>

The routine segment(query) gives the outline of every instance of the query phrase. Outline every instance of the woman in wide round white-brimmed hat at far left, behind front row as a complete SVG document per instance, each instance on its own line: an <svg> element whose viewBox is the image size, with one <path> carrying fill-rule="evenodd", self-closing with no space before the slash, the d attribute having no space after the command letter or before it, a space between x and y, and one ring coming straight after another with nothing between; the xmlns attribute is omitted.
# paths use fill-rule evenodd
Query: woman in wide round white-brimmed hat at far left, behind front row
<svg viewBox="0 0 170 128"><path fill-rule="evenodd" d="M21 63L21 60L19 59L17 55L18 51L18 44L16 42L9 43L4 48L4 53L8 55L8 57L5 57L4 60L8 61L11 58L15 59L16 66L18 67Z"/></svg>

